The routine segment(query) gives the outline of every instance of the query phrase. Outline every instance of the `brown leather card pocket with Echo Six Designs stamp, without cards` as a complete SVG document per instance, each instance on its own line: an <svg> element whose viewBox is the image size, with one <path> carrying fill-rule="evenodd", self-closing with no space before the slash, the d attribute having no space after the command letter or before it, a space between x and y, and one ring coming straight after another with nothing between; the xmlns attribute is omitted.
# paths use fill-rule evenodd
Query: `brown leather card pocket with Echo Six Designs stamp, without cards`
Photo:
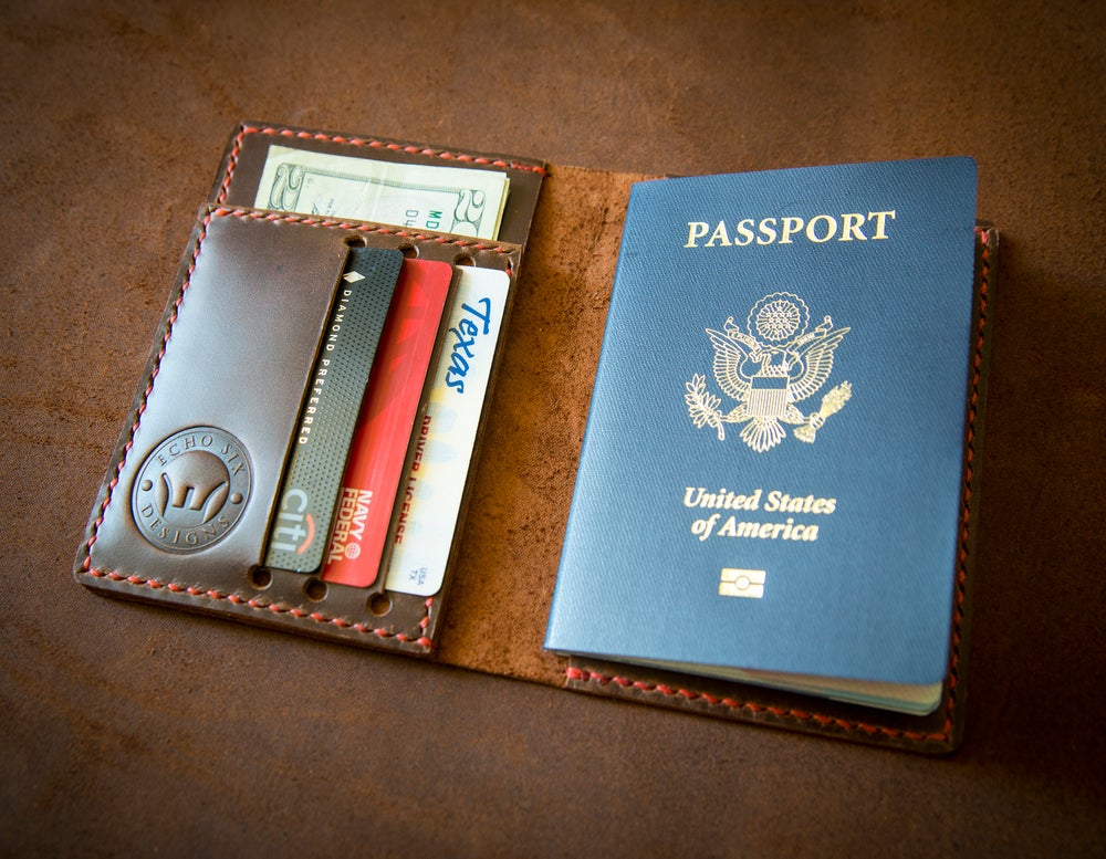
<svg viewBox="0 0 1106 859"><path fill-rule="evenodd" d="M264 566L351 245L508 272L521 249L257 209L200 211L81 545L83 585L429 653L430 597Z"/></svg>

